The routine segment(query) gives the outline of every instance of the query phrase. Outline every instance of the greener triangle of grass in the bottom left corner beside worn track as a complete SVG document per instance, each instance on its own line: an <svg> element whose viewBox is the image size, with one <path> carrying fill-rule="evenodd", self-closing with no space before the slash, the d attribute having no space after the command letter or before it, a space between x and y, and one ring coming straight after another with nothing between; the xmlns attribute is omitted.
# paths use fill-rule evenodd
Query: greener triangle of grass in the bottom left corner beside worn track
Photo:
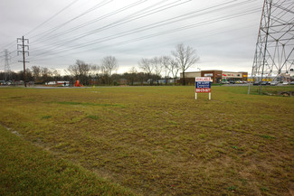
<svg viewBox="0 0 294 196"><path fill-rule="evenodd" d="M0 126L0 195L131 195Z"/></svg>

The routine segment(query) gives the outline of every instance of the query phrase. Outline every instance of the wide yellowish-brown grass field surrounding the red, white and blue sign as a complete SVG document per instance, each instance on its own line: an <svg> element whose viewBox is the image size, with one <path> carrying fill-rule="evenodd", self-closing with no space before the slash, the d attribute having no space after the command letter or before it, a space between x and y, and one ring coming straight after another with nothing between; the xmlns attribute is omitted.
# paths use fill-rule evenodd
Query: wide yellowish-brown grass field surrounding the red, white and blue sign
<svg viewBox="0 0 294 196"><path fill-rule="evenodd" d="M7 88L0 123L54 163L135 194L293 195L294 98L246 93L213 87L209 101L195 100L194 87Z"/></svg>

